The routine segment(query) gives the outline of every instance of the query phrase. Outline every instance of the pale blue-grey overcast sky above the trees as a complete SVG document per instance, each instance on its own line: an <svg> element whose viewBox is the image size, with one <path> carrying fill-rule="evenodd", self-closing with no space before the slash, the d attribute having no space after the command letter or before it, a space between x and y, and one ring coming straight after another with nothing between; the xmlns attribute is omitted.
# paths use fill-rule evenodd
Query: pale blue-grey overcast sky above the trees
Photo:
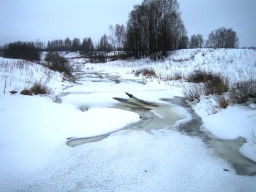
<svg viewBox="0 0 256 192"><path fill-rule="evenodd" d="M126 24L142 0L0 0L0 45L91 37L97 42L109 25ZM189 36L207 38L219 27L237 31L240 46L256 46L256 0L178 0Z"/></svg>

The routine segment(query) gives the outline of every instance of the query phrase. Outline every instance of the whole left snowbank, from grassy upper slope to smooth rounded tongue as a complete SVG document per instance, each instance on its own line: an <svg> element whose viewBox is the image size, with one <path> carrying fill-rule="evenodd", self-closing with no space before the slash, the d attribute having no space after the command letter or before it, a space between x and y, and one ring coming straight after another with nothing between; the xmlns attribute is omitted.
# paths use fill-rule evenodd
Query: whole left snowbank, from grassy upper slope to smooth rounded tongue
<svg viewBox="0 0 256 192"><path fill-rule="evenodd" d="M73 84L37 63L5 58L0 63L0 170L10 183L51 161L55 151L66 146L66 138L106 134L139 121L139 115L129 111L97 105L82 112L47 96L21 95L35 81L45 83L53 96ZM10 94L12 90L18 93Z"/></svg>

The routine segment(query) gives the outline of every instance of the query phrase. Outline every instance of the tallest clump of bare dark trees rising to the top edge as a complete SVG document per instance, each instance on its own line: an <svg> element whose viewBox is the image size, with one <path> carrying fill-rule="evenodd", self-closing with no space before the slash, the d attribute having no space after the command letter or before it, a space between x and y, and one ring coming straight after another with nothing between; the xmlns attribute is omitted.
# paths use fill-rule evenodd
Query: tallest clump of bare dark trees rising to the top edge
<svg viewBox="0 0 256 192"><path fill-rule="evenodd" d="M165 57L187 48L188 37L177 0L144 0L129 15L125 48L135 58Z"/></svg>

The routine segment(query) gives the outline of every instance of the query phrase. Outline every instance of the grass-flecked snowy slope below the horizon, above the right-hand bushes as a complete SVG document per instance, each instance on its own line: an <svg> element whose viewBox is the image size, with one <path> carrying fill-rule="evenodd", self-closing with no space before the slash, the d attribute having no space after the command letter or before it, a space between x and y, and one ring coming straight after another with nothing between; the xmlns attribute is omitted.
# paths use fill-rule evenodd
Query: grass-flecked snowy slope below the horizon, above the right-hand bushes
<svg viewBox="0 0 256 192"><path fill-rule="evenodd" d="M183 76L202 69L207 72L221 73L237 82L256 78L256 50L254 49L185 49L171 51L164 60L152 61L150 58L130 61L114 61L92 65L94 69L111 69L131 73L132 70L152 67L157 79L165 80L175 73ZM112 67L112 68L110 68ZM167 82L168 83L168 82ZM170 84L170 82L169 82Z"/></svg>

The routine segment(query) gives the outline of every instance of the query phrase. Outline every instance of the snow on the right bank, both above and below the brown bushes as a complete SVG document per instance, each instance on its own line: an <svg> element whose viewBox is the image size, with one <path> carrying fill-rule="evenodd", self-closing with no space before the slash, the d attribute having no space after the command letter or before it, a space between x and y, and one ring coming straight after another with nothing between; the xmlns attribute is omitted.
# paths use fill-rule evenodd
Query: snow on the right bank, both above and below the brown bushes
<svg viewBox="0 0 256 192"><path fill-rule="evenodd" d="M104 70L109 73L122 73L123 77L134 78L133 71L152 68L156 72L155 78L144 79L147 83L163 84L166 87L182 88L190 86L184 80L166 81L175 74L183 77L196 70L209 73L220 73L229 78L230 85L235 82L256 78L256 50L255 49L186 49L172 51L163 61L139 59L131 61L114 61L101 65L86 65L93 69ZM180 89L182 90L182 89ZM178 95L180 96L180 95ZM203 120L203 129L210 131L215 137L234 139L239 136L247 139L241 147L241 153L256 162L256 106L230 105L227 109L219 109L218 104L211 97L201 97L193 109ZM215 114L215 112L218 112Z"/></svg>

